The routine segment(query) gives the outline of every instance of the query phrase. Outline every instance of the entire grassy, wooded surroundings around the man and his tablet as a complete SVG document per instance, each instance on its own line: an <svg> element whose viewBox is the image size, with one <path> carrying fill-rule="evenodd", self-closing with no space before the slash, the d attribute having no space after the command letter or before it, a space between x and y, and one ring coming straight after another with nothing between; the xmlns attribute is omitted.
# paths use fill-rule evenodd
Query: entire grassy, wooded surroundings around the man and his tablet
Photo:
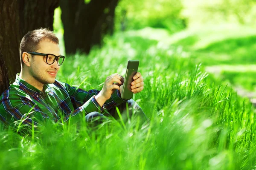
<svg viewBox="0 0 256 170"><path fill-rule="evenodd" d="M74 87L100 90L139 59L145 87L133 99L151 120L95 131L50 123L35 137L2 130L0 169L255 169L256 108L247 98L256 103L256 0L0 0L0 7L0 94L20 72L21 38L46 27L66 56L57 79Z"/></svg>

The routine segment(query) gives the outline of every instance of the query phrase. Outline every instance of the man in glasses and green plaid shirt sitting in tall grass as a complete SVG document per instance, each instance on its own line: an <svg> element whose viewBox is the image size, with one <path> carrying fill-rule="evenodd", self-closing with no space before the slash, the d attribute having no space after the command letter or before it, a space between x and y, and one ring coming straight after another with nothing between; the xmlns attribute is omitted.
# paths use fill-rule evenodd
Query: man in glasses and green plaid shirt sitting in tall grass
<svg viewBox="0 0 256 170"><path fill-rule="evenodd" d="M82 115L91 121L93 117L108 116L105 111L117 117L116 106L122 112L126 103L137 110L140 118L147 119L132 99L120 98L124 78L119 74L108 76L101 91L84 91L55 80L64 58L52 31L41 28L27 33L20 42L21 71L0 96L0 122L38 125L46 119L58 122L62 118L66 122ZM138 72L133 79L132 91L142 91L141 74Z"/></svg>

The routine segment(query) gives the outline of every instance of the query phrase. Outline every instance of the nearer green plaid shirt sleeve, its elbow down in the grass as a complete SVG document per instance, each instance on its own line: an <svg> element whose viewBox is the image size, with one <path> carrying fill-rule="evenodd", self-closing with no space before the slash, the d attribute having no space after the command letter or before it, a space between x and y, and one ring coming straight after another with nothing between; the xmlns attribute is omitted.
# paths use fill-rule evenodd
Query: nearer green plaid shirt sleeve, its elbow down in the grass
<svg viewBox="0 0 256 170"><path fill-rule="evenodd" d="M90 108L90 100L88 100L84 105L76 108L73 112L69 113L63 117L63 121L66 122L72 118L73 122L80 120L80 117L86 115L88 111L91 111L93 108ZM89 107L87 107L89 105ZM80 115L80 116L76 116ZM60 117L58 113L46 114L38 107L37 103L32 102L29 98L25 96L20 96L18 94L9 95L6 93L6 96L0 99L0 121L4 125L11 125L13 127L17 126L27 126L32 127L34 125L36 128L40 126L41 122L46 121L47 119L58 122Z"/></svg>

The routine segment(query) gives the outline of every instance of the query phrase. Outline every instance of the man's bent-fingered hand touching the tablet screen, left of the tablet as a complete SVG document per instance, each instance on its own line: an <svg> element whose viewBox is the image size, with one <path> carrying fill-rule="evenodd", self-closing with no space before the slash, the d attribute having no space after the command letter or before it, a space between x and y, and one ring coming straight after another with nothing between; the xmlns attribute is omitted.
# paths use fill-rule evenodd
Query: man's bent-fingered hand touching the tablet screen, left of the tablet
<svg viewBox="0 0 256 170"><path fill-rule="evenodd" d="M120 85L122 85L123 82L124 78L120 74L116 73L108 76L104 82L102 90L95 96L99 105L102 106L108 99L110 99L116 89L120 90Z"/></svg>

